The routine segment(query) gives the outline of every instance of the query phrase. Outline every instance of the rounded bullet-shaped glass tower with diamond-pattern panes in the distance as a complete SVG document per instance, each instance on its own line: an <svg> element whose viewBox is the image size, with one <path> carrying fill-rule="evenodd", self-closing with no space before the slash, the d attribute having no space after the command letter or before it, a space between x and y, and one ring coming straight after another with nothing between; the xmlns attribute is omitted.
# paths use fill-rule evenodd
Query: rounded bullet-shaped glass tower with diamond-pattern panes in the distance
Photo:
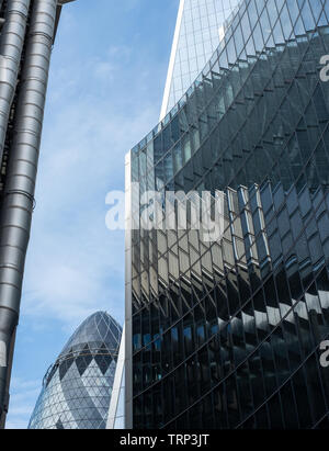
<svg viewBox="0 0 329 451"><path fill-rule="evenodd" d="M105 312L81 324L47 371L29 429L105 429L121 335Z"/></svg>

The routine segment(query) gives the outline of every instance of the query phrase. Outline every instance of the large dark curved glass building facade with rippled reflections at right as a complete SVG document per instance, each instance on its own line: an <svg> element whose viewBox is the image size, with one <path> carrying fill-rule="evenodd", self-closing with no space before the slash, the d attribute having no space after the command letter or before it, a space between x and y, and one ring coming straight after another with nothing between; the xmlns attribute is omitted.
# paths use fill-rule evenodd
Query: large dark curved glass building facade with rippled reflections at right
<svg viewBox="0 0 329 451"><path fill-rule="evenodd" d="M129 426L329 427L327 54L328 0L242 0L131 151L135 224L146 191L220 190L225 233L128 233Z"/></svg>

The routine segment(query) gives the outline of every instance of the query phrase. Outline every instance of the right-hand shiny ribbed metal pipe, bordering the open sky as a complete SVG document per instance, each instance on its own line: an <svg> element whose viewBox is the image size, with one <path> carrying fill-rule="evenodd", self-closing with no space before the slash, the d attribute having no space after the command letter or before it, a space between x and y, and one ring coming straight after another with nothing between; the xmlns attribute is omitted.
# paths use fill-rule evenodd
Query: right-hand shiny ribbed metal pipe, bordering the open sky
<svg viewBox="0 0 329 451"><path fill-rule="evenodd" d="M0 212L0 413L5 415L10 349L22 279L44 116L57 0L34 0ZM2 359L1 359L2 350Z"/></svg>

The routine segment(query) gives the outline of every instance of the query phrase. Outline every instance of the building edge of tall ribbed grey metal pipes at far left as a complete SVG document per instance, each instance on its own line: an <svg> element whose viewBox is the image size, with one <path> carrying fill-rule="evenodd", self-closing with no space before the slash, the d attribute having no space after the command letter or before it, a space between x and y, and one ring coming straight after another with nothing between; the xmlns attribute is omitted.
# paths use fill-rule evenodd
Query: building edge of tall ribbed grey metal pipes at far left
<svg viewBox="0 0 329 451"><path fill-rule="evenodd" d="M0 427L9 402L52 46L69 1L0 0Z"/></svg>

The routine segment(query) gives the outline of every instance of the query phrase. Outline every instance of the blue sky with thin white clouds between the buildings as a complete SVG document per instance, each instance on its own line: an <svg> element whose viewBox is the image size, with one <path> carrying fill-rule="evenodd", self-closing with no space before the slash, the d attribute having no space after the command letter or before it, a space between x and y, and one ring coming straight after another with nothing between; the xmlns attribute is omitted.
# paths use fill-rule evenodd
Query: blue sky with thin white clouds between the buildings
<svg viewBox="0 0 329 451"><path fill-rule="evenodd" d="M54 47L8 428L25 428L42 379L76 327L124 319L124 234L105 195L158 122L179 0L77 0Z"/></svg>

